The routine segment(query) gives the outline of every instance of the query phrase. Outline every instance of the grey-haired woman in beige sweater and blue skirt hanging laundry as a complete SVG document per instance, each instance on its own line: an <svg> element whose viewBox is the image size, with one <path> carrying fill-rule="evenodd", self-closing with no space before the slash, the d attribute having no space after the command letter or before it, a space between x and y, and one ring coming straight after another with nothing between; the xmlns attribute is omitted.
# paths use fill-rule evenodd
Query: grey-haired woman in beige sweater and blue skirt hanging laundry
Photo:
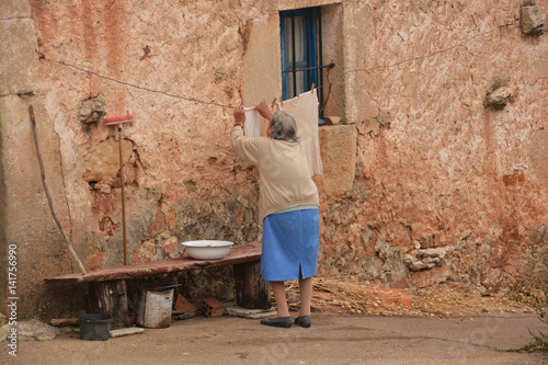
<svg viewBox="0 0 548 365"><path fill-rule="evenodd" d="M263 224L261 276L270 282L277 305L276 316L261 323L292 327L284 282L298 280L300 316L295 324L309 328L320 237L318 190L305 146L297 137L295 118L287 112L272 114L264 101L256 110L270 121L269 137L243 136L246 113L239 106L230 140L236 153L259 169L259 218Z"/></svg>

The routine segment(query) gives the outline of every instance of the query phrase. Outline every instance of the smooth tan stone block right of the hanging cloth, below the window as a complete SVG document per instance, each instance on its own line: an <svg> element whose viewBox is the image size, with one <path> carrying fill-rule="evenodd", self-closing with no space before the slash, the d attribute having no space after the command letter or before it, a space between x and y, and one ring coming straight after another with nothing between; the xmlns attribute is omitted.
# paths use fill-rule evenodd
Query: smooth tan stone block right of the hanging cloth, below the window
<svg viewBox="0 0 548 365"><path fill-rule="evenodd" d="M354 125L320 128L320 150L323 175L317 178L319 187L330 195L350 191L356 172L356 138Z"/></svg>

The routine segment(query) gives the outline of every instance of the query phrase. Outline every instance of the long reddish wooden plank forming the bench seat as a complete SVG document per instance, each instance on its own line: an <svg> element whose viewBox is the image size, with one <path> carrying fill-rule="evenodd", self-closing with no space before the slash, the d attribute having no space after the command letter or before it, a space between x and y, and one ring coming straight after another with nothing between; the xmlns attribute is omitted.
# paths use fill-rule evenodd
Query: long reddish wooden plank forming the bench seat
<svg viewBox="0 0 548 365"><path fill-rule="evenodd" d="M203 267L217 267L261 260L261 244L253 242L230 248L230 252L221 260L194 260L186 254L178 259L159 260L127 266L107 267L88 272L87 274L66 274L44 278L47 284L72 284L104 282L112 280L146 276L159 273L172 273Z"/></svg>

